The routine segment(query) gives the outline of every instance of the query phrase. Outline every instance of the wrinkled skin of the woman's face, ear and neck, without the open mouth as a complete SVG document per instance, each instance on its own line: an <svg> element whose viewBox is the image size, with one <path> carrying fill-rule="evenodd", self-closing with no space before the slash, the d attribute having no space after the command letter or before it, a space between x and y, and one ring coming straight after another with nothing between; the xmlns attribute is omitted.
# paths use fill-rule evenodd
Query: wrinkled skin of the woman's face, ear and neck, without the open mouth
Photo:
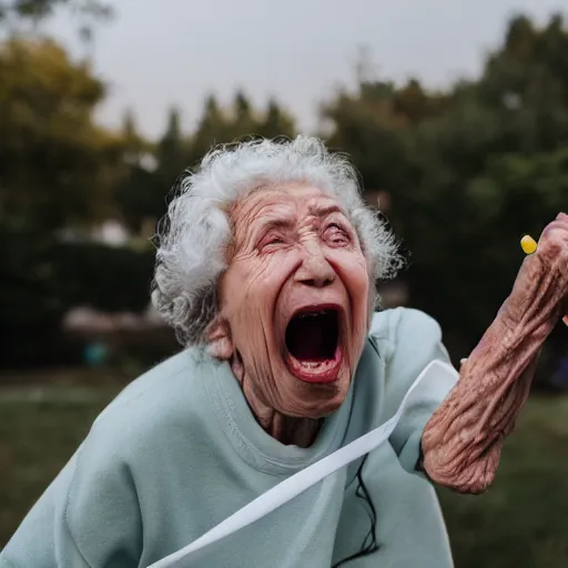
<svg viewBox="0 0 568 568"><path fill-rule="evenodd" d="M369 274L338 202L317 187L256 190L230 216L234 242L219 284L220 315L209 352L231 362L263 428L310 446L321 418L344 402L368 327ZM285 358L285 329L306 305L341 308L341 367L333 382L298 379Z"/></svg>

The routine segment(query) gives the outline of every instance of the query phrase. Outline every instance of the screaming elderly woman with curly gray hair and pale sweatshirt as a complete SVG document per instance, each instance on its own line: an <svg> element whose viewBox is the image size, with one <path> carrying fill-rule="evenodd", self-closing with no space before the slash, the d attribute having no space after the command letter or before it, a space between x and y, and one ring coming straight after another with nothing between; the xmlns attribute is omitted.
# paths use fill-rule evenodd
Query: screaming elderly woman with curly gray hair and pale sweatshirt
<svg viewBox="0 0 568 568"><path fill-rule="evenodd" d="M450 393L432 383L388 444L180 566L450 567L430 483L493 480L566 307L567 263L559 215ZM101 414L0 565L149 566L383 424L448 361L429 316L375 313L375 281L399 265L355 171L318 140L210 153L158 248L153 302L185 348Z"/></svg>

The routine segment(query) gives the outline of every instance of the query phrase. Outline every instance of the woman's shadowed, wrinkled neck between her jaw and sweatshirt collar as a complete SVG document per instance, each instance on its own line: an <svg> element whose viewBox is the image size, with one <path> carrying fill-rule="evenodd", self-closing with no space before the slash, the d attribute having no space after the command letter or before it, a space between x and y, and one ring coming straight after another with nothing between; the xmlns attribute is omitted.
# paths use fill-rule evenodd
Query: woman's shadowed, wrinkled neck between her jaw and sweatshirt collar
<svg viewBox="0 0 568 568"><path fill-rule="evenodd" d="M231 368L256 420L267 434L286 446L307 448L314 443L322 419L297 418L278 413L266 405L255 392L253 382L247 377L237 357L232 358Z"/></svg>

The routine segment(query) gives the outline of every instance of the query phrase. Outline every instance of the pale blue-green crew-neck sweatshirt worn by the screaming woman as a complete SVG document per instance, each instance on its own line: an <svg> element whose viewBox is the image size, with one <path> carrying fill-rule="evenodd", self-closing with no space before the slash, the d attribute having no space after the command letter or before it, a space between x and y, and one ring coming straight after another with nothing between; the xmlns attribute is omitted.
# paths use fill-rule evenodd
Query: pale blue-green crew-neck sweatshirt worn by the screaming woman
<svg viewBox="0 0 568 568"><path fill-rule="evenodd" d="M260 427L227 364L185 349L103 410L0 554L0 567L146 567L383 424L433 359L448 361L434 320L405 308L376 314L347 398L315 443L300 448ZM368 455L362 478L376 509L379 548L343 566L453 566L435 491L415 470L424 425L446 395L433 384L389 444ZM372 529L371 508L356 496L359 465L180 568L329 568L359 551Z"/></svg>

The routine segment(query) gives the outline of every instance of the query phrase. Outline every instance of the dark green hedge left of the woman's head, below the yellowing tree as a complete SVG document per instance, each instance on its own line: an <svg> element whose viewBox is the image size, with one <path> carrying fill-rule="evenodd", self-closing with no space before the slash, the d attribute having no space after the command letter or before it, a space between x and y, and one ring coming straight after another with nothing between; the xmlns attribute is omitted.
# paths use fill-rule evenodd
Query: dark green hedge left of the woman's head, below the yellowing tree
<svg viewBox="0 0 568 568"><path fill-rule="evenodd" d="M0 367L80 362L82 346L60 328L64 313L78 305L144 310L153 264L153 251L59 243L1 227Z"/></svg>

